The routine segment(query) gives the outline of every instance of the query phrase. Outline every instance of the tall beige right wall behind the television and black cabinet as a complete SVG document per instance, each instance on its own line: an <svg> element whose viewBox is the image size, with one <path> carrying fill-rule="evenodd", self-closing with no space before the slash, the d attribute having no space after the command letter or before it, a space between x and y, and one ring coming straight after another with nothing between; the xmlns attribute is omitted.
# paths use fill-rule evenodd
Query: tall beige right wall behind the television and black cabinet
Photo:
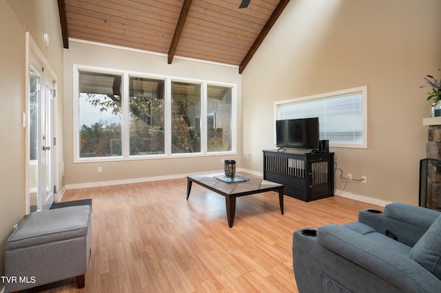
<svg viewBox="0 0 441 293"><path fill-rule="evenodd" d="M418 205L431 105L419 86L441 67L440 14L438 0L291 0L242 74L243 168L262 172L276 147L275 101L367 85L368 148L331 148L367 184L342 195Z"/></svg>

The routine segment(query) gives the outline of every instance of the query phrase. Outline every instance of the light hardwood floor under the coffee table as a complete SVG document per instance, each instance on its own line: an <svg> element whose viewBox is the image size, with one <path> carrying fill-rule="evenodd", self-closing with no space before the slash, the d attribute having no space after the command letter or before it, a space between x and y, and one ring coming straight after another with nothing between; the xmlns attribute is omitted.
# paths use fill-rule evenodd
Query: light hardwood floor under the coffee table
<svg viewBox="0 0 441 293"><path fill-rule="evenodd" d="M302 202L278 193L239 197L228 227L225 197L187 179L69 190L92 198L92 253L85 288L75 278L28 292L297 292L292 233L356 221L382 207L344 197Z"/></svg>

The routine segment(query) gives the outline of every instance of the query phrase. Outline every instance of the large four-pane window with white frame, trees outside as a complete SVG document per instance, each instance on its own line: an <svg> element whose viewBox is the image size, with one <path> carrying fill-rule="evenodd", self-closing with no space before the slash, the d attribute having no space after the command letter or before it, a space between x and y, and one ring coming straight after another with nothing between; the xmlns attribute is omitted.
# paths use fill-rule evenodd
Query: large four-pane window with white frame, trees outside
<svg viewBox="0 0 441 293"><path fill-rule="evenodd" d="M75 162L235 151L236 85L75 69Z"/></svg>

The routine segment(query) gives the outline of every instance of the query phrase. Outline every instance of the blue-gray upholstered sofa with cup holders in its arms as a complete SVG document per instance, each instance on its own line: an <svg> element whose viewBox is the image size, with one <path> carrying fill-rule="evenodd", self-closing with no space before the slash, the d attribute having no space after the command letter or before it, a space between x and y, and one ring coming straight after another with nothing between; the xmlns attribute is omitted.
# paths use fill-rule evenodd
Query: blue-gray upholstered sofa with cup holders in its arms
<svg viewBox="0 0 441 293"><path fill-rule="evenodd" d="M441 292L440 215L393 203L361 210L358 222L294 232L299 292Z"/></svg>

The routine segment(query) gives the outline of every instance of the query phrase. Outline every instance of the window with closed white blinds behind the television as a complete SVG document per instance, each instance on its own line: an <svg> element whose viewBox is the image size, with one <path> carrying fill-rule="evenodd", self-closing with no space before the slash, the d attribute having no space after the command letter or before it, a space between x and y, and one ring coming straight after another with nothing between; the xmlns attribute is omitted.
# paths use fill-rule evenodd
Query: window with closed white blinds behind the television
<svg viewBox="0 0 441 293"><path fill-rule="evenodd" d="M318 117L329 146L367 148L367 87L275 103L276 120Z"/></svg>

